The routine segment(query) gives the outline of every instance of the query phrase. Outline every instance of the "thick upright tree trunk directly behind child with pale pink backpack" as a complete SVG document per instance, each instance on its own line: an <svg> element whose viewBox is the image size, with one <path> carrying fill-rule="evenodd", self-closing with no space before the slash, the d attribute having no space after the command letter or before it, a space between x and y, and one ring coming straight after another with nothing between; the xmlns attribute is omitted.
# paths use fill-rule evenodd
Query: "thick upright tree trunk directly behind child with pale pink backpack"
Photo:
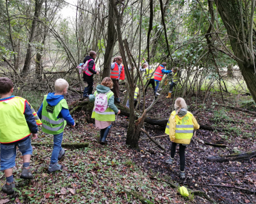
<svg viewBox="0 0 256 204"><path fill-rule="evenodd" d="M111 72L111 59L113 54L113 49L116 43L116 28L115 28L115 14L111 3L109 2L108 9L108 39L106 41L106 50L104 55L104 68L102 79L110 76Z"/></svg>

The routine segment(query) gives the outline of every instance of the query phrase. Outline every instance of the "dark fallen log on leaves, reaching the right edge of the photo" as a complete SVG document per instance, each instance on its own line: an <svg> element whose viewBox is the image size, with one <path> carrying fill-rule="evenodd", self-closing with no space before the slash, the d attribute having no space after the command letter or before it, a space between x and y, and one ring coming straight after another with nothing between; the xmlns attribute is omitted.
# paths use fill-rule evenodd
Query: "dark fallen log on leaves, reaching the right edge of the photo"
<svg viewBox="0 0 256 204"><path fill-rule="evenodd" d="M254 156L256 156L256 150L230 155L208 156L207 160L210 162L228 162L253 158Z"/></svg>

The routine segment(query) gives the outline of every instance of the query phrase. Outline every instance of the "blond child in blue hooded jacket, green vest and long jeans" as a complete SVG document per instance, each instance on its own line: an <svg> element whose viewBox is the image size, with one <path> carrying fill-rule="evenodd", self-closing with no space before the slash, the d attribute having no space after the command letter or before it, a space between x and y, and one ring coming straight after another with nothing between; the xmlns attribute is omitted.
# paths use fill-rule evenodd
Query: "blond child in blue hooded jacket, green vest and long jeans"
<svg viewBox="0 0 256 204"><path fill-rule="evenodd" d="M54 135L54 150L52 150L48 173L62 169L62 165L59 165L58 161L65 155L65 150L62 149L61 143L66 121L72 128L76 126L72 116L69 114L67 101L63 96L67 94L69 83L65 79L57 79L54 88L55 93L49 93L44 96L44 101L37 112L39 118L42 119L42 132Z"/></svg>

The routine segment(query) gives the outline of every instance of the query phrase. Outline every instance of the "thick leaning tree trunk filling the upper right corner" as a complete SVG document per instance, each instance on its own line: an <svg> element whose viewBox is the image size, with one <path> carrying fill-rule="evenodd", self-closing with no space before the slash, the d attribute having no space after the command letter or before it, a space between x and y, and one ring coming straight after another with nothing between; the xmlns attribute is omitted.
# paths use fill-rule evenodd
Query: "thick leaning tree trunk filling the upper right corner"
<svg viewBox="0 0 256 204"><path fill-rule="evenodd" d="M253 29L250 29L251 26L248 28L246 25L246 20L250 17L246 16L244 2L240 2L239 0L214 0L214 2L218 7L218 12L221 15L227 34L229 35L230 45L232 46L235 60L237 61L241 74L244 77L244 81L246 81L247 87L256 102L255 56L251 50L253 48L249 45L249 42L252 41L250 38L252 38ZM253 3L252 7L255 7ZM254 9L251 10L254 12ZM249 21L250 25L254 23L253 19L249 19ZM255 41L256 38L254 36L253 45L255 45Z"/></svg>

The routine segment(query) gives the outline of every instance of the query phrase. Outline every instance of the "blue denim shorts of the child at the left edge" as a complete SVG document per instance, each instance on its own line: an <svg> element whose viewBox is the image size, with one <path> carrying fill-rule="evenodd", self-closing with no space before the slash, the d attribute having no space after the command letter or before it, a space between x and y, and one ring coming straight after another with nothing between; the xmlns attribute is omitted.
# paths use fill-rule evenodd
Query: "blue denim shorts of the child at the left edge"
<svg viewBox="0 0 256 204"><path fill-rule="evenodd" d="M33 149L30 136L27 140L22 141L21 143L10 145L1 144L1 171L15 166L17 147L19 147L19 151L22 152L23 156L32 155Z"/></svg>

